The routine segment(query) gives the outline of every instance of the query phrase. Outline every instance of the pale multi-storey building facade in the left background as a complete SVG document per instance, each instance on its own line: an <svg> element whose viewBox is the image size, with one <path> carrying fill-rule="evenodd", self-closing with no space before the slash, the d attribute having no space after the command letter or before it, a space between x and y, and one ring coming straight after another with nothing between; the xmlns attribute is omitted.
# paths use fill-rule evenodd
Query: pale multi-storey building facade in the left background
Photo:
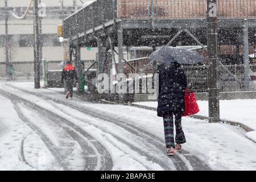
<svg viewBox="0 0 256 182"><path fill-rule="evenodd" d="M13 63L18 76L32 76L34 73L34 7L28 11L24 19L22 16L31 0L7 0L7 38L9 39L9 61ZM33 1L34 2L34 1ZM63 0L63 8L60 0L41 0L39 15L42 19L42 59L47 61L63 61L63 45L57 36L57 25L62 24L62 19L79 9L84 1ZM77 6L77 7L76 7ZM6 61L6 7L5 0L0 0L0 76L5 77ZM14 15L13 15L14 14ZM87 51L87 52L86 52ZM92 50L81 50L82 59L93 60L95 55ZM59 69L58 64L53 64L50 69Z"/></svg>

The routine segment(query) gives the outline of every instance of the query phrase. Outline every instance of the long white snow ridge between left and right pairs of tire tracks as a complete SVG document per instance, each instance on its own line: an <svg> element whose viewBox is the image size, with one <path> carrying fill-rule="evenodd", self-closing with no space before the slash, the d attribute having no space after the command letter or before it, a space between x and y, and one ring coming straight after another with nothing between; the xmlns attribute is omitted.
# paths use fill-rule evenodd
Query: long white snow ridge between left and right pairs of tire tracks
<svg viewBox="0 0 256 182"><path fill-rule="evenodd" d="M20 83L18 83L18 85L19 84ZM23 92L20 92L19 90L15 90L13 88L6 88L4 85L1 86L1 88L8 89L11 93L14 93L15 95L18 95L25 99L29 98L30 101L35 102L37 105L42 106L44 109L51 110L53 111L53 113L69 119L69 121L72 121L76 125L80 126L84 131L86 131L86 133L90 134L93 138L96 138L110 152L114 163L113 170L163 170L163 168L160 167L158 164L152 163L150 160L147 160L145 157L141 156L136 151L126 146L126 144L120 142L117 138L114 138L113 135L117 137L122 137L125 131L123 131L121 128L114 129L112 128L113 125L111 124L104 125L104 122L100 121L99 119L88 117L87 115L84 115L76 110L72 110L71 108L67 108L67 110L65 110L64 105L61 105L61 109L59 110L57 109L56 105L51 105L51 102L45 101L42 98L31 96L29 94L24 94ZM27 89L27 85L24 86L24 88ZM46 89L42 89L40 90L40 92L44 92L45 90ZM69 113L67 114L67 112ZM82 122L82 120L79 119L86 120L86 122ZM44 130L44 132L47 133L46 130ZM129 135L130 134L127 134L128 138ZM134 143L134 140L135 143L137 143L137 139L133 138L133 136L131 136L129 139L130 143ZM139 144L137 145L137 147L142 148L141 146L139 146ZM175 169L174 164L171 162L171 160L168 160L168 157L163 152L159 157L166 158L167 163L169 163L170 166Z"/></svg>

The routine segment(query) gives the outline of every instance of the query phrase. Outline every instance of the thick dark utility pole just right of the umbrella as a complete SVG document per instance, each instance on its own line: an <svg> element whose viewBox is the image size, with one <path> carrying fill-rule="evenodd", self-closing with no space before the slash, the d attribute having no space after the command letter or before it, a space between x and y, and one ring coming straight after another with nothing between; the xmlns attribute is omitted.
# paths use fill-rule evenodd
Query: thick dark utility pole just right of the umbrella
<svg viewBox="0 0 256 182"><path fill-rule="evenodd" d="M220 121L220 90L218 88L217 0L207 0L207 54L209 122Z"/></svg>

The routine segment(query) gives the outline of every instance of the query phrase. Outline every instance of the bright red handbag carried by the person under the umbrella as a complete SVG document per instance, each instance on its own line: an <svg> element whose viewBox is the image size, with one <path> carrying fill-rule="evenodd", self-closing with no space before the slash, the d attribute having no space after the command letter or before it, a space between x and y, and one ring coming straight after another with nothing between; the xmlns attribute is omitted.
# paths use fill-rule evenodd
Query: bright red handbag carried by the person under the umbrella
<svg viewBox="0 0 256 182"><path fill-rule="evenodd" d="M196 102L196 96L193 92L189 92L188 88L185 89L184 94L184 113L183 116L193 115L199 112L199 106Z"/></svg>

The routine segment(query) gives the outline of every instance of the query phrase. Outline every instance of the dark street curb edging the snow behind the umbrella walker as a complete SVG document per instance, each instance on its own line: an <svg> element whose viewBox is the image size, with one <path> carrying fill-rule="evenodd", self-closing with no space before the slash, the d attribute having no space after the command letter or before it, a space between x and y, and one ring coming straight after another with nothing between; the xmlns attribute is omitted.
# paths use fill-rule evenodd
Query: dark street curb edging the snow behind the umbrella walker
<svg viewBox="0 0 256 182"><path fill-rule="evenodd" d="M134 106L134 107L138 107L138 108L141 108L141 109L147 109L147 110L154 110L154 111L156 111L156 108L154 108L154 107L142 106L142 105L137 105L137 104L129 104L129 105L130 106ZM191 116L188 116L188 117L195 118L195 119L201 119L201 120L208 120L208 117L205 117L203 115L191 115ZM217 122L217 123L228 123L229 125L240 126L246 132L254 131L253 129L251 129L250 127L248 127L246 125L243 125L242 123L235 122L235 121L229 121L227 119L220 119L220 121Z"/></svg>

